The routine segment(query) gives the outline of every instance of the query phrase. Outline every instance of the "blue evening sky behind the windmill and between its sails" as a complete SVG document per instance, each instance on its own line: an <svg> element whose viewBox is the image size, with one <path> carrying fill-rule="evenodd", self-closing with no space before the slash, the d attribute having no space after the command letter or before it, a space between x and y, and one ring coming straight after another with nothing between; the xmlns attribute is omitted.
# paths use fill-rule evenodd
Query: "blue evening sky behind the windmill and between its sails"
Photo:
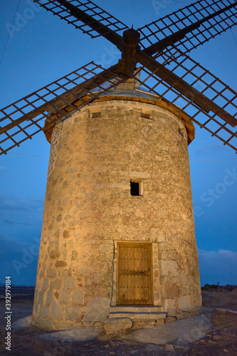
<svg viewBox="0 0 237 356"><path fill-rule="evenodd" d="M105 39L91 39L31 0L21 0L9 36L18 4L19 0L0 2L0 56L4 52L0 65L1 108L92 60L108 67L120 58ZM101 0L98 4L128 26L138 28L191 1ZM237 26L190 54L234 90L236 41ZM40 133L0 157L2 283L8 274L12 283L35 283L49 148ZM197 127L189 158L201 284L237 284L236 153Z"/></svg>

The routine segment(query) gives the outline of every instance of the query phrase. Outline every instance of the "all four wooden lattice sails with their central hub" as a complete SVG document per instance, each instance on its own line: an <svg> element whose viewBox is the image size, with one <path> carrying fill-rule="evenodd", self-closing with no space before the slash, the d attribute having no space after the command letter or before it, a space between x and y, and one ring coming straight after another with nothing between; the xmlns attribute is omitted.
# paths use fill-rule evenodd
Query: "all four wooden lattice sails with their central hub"
<svg viewBox="0 0 237 356"><path fill-rule="evenodd" d="M122 51L122 59L107 70L88 63L0 110L0 122L4 122L0 127L0 154L37 132L46 132L65 120L68 112L90 103L100 95L93 93L95 88L102 93L131 78L136 63L142 65L141 83L145 88L179 112L186 112L196 124L237 151L233 128L237 125L236 92L184 54L235 25L237 1L199 0L139 28L139 32L127 30L123 37L117 31L127 28L125 24L92 1L35 1L84 33L107 38ZM139 33L143 50L138 46ZM50 112L54 112L53 118Z"/></svg>

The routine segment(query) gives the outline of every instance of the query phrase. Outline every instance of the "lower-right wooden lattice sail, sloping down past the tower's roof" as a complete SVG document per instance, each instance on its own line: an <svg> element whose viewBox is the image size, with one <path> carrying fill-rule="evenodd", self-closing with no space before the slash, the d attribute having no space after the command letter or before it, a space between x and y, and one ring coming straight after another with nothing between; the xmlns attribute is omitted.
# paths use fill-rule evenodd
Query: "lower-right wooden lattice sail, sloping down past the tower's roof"
<svg viewBox="0 0 237 356"><path fill-rule="evenodd" d="M177 85L169 72L158 78L159 68L155 72L149 65L141 68L141 85L166 99L169 105L175 105L199 127L237 152L237 93L175 47L170 48L169 56L161 53L158 59L169 63L169 71L176 78L185 80L186 89L185 85Z"/></svg>

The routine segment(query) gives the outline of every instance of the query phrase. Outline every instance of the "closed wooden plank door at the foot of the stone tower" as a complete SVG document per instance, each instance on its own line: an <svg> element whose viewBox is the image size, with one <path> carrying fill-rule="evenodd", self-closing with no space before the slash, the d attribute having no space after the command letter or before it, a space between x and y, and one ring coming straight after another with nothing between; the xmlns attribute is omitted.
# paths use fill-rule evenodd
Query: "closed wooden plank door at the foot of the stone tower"
<svg viewBox="0 0 237 356"><path fill-rule="evenodd" d="M152 244L117 246L117 304L152 305Z"/></svg>

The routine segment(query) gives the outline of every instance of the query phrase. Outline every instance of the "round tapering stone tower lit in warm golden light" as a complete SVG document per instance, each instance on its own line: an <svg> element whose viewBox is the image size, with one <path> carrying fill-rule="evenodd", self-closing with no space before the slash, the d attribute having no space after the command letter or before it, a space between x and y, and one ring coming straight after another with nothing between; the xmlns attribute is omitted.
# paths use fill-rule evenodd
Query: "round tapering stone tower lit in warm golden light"
<svg viewBox="0 0 237 356"><path fill-rule="evenodd" d="M201 311L189 117L134 80L48 134L33 309L49 330L105 318L164 323Z"/></svg>

